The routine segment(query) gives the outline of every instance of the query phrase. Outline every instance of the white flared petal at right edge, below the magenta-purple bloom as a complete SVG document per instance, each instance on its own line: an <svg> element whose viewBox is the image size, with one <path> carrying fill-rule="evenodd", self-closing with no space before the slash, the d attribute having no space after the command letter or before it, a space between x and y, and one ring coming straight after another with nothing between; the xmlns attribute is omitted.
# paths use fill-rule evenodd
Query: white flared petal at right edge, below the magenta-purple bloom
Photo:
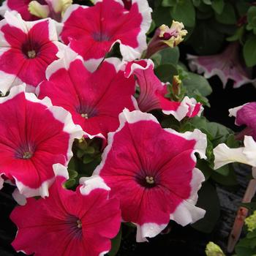
<svg viewBox="0 0 256 256"><path fill-rule="evenodd" d="M231 162L241 162L256 167L256 143L252 136L244 136L244 147L229 148L226 144L219 144L214 148L214 169Z"/></svg>

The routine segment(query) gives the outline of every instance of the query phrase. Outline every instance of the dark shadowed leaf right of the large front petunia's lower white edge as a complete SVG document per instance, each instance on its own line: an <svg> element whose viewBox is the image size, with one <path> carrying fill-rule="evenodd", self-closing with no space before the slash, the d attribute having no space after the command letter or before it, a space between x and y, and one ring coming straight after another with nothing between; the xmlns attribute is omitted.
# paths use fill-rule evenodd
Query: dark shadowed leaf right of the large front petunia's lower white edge
<svg viewBox="0 0 256 256"><path fill-rule="evenodd" d="M211 233L219 219L220 206L216 189L208 181L203 183L198 192L197 206L205 209L206 215L192 224L192 227L200 232Z"/></svg>

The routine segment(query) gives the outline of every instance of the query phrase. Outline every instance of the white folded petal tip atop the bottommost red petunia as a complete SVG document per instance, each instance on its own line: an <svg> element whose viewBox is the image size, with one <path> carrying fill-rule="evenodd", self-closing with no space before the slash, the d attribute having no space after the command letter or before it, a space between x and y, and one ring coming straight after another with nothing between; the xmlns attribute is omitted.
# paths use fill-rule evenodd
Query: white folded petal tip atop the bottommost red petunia
<svg viewBox="0 0 256 256"><path fill-rule="evenodd" d="M110 187L108 187L103 179L97 175L91 177L82 177L80 178L79 183L82 184L80 187L80 193L82 195L89 195L94 189L105 189L110 191Z"/></svg>

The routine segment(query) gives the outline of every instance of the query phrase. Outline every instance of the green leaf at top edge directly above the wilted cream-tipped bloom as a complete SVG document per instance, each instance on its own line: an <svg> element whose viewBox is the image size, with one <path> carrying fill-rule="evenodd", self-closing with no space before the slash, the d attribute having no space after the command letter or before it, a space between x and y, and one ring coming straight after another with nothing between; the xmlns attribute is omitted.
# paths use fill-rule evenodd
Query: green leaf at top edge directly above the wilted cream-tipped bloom
<svg viewBox="0 0 256 256"><path fill-rule="evenodd" d="M180 0L170 9L173 20L184 23L184 26L195 26L195 7L191 0Z"/></svg>

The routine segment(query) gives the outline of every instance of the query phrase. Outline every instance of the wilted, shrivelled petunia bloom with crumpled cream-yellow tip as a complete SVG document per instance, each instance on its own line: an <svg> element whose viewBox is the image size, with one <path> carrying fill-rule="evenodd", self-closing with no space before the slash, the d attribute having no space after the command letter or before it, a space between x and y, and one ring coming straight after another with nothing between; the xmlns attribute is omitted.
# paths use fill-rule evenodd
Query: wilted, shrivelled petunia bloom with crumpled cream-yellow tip
<svg viewBox="0 0 256 256"><path fill-rule="evenodd" d="M182 22L173 20L170 28L165 24L159 26L154 32L154 36L148 43L148 49L146 51L146 58L150 58L154 53L167 47L176 47L180 42L184 40L187 35L187 30L184 29Z"/></svg>

